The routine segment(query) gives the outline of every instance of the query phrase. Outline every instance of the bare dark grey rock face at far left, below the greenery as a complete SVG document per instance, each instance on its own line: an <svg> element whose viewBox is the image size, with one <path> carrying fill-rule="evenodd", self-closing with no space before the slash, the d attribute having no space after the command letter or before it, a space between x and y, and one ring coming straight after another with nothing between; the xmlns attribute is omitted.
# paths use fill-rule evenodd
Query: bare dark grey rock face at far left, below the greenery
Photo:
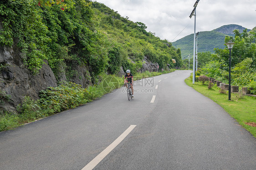
<svg viewBox="0 0 256 170"><path fill-rule="evenodd" d="M39 91L49 86L57 86L56 78L48 65L42 66L37 75L33 75L23 64L20 53L11 47L0 46L0 90L10 95L10 101L4 100L0 109L15 112L15 107L24 96L39 99Z"/></svg>

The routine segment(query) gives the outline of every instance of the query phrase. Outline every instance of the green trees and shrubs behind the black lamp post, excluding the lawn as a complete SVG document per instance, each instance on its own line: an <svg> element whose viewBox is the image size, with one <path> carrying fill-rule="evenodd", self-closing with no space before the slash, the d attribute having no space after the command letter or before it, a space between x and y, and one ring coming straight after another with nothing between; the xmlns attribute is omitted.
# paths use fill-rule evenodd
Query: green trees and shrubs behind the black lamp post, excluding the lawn
<svg viewBox="0 0 256 170"><path fill-rule="evenodd" d="M247 32L244 30L233 31L235 37L226 36L224 43L229 40L235 42L231 50L231 85L247 87L252 95L256 95L256 32L255 29ZM198 67L200 73L196 72L196 79L200 74L215 80L229 83L229 50L215 48L215 54L203 52L198 54ZM188 64L188 60L184 60ZM187 67L188 68L188 67ZM193 59L190 60L190 70L193 70Z"/></svg>

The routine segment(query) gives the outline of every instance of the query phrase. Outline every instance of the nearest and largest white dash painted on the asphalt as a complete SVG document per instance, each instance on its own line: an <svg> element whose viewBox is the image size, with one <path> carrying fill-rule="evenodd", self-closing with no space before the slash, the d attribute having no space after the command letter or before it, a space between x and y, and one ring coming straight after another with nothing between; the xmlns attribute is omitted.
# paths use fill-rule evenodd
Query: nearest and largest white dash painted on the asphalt
<svg viewBox="0 0 256 170"><path fill-rule="evenodd" d="M92 170L100 161L102 161L123 139L135 128L136 125L130 125L127 130L123 132L112 144L110 144L105 150L97 155L91 162L89 162L82 170Z"/></svg>

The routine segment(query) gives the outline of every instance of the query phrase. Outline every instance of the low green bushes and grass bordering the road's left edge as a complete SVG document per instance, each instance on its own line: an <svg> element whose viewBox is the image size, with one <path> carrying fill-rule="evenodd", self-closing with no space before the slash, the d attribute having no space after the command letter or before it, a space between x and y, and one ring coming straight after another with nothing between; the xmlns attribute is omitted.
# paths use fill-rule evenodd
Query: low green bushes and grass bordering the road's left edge
<svg viewBox="0 0 256 170"><path fill-rule="evenodd" d="M174 70L165 72L146 71L145 73L137 73L133 76L134 80L139 80L173 71ZM26 96L23 103L17 107L19 114L0 112L0 131L10 130L61 111L84 105L87 102L102 97L102 95L121 87L123 85L123 78L124 77L115 75L102 74L100 76L101 82L97 86L93 85L83 89L81 85L63 82L58 87L48 87L46 90L41 90L40 100L32 100L30 97Z"/></svg>

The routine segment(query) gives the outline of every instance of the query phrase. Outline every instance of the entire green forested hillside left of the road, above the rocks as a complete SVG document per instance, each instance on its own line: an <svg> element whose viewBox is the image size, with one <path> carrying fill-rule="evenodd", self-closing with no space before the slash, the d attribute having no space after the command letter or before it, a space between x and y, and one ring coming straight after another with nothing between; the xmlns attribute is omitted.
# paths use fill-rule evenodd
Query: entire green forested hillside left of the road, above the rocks
<svg viewBox="0 0 256 170"><path fill-rule="evenodd" d="M59 5L37 4L38 0L0 2L0 45L17 45L24 64L34 74L44 60L57 80L63 75L71 80L76 65L84 65L92 81L101 72L115 74L120 66L136 71L144 56L158 63L159 69L182 65L180 51L171 43L147 32L143 23L123 18L103 4L65 0L65 10ZM175 65L171 59L176 60Z"/></svg>

